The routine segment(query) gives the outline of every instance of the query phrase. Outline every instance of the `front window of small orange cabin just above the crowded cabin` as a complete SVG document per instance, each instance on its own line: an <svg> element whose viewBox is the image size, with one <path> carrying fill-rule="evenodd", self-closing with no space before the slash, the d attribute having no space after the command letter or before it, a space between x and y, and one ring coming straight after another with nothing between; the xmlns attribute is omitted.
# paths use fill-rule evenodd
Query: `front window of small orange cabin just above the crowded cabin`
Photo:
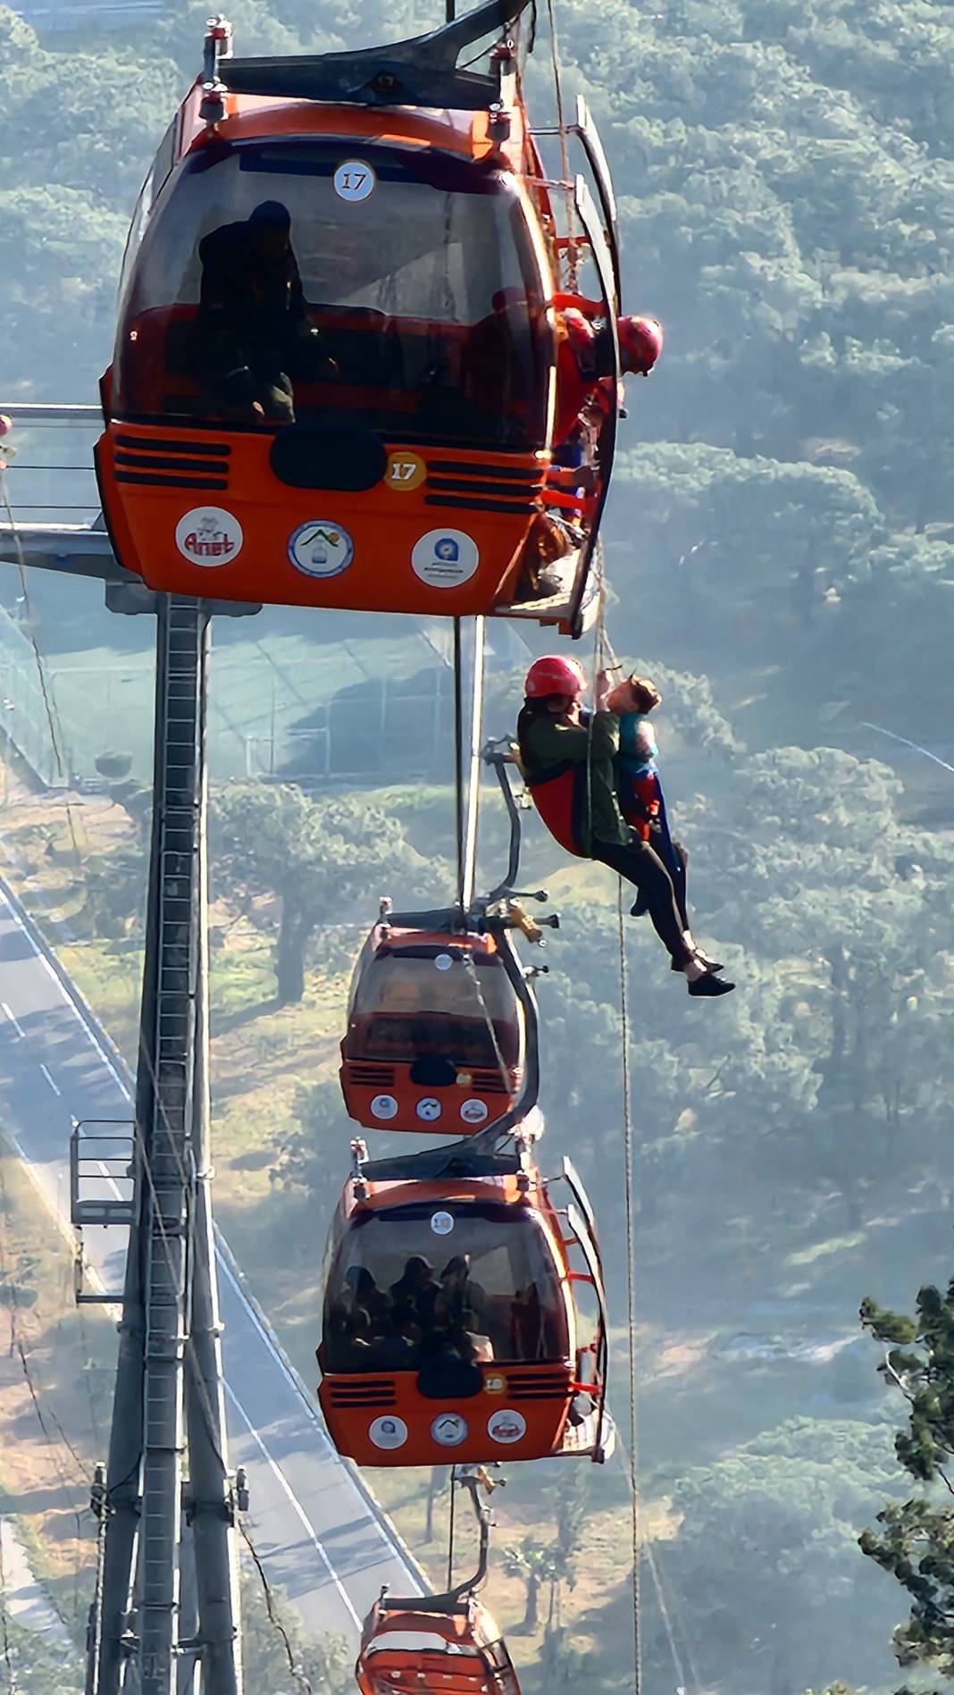
<svg viewBox="0 0 954 1695"><path fill-rule="evenodd" d="M519 1066L520 1005L496 954L400 948L361 975L346 1051L408 1064L427 1051L461 1064Z"/></svg>

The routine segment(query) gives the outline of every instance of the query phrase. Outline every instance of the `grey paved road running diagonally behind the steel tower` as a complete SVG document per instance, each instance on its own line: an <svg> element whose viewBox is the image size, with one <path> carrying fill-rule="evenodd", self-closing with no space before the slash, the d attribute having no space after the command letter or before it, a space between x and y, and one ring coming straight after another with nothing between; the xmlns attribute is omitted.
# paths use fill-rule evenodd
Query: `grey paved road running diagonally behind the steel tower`
<svg viewBox="0 0 954 1695"><path fill-rule="evenodd" d="M71 1120L130 1115L125 1076L0 881L0 1122L63 1224ZM125 1234L85 1231L86 1263L105 1290L122 1288ZM256 1549L308 1634L339 1631L354 1642L381 1583L419 1593L419 1573L330 1446L227 1251L219 1285L229 1459L247 1470Z"/></svg>

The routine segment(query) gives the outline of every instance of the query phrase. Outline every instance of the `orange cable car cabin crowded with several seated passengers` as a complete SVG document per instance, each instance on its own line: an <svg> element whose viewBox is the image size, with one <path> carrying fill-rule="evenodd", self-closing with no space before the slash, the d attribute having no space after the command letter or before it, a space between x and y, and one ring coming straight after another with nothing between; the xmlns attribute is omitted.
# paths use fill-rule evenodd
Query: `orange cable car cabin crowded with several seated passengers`
<svg viewBox="0 0 954 1695"><path fill-rule="evenodd" d="M476 1142L359 1161L344 1188L325 1258L319 1402L334 1446L359 1464L610 1451L586 1197L564 1163L573 1200L557 1209L525 1146Z"/></svg>

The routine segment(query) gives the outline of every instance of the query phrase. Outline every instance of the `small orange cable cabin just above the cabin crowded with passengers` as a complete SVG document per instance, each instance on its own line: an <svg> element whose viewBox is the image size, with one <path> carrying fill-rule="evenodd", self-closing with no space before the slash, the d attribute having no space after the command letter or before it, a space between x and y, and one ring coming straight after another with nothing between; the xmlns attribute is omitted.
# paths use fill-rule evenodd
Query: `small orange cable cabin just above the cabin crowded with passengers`
<svg viewBox="0 0 954 1695"><path fill-rule="evenodd" d="M469 1136L520 1097L529 993L507 931L383 912L351 983L341 1090L366 1129Z"/></svg>

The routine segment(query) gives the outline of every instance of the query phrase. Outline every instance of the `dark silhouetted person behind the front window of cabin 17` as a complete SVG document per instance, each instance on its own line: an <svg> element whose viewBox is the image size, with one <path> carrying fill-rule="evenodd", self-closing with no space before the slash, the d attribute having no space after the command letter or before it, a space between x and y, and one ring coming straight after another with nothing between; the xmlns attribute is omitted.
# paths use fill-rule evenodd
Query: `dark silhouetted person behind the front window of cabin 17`
<svg viewBox="0 0 954 1695"><path fill-rule="evenodd" d="M198 258L197 344L212 403L227 417L293 424L291 378L334 366L308 319L288 207L263 200L205 236Z"/></svg>

